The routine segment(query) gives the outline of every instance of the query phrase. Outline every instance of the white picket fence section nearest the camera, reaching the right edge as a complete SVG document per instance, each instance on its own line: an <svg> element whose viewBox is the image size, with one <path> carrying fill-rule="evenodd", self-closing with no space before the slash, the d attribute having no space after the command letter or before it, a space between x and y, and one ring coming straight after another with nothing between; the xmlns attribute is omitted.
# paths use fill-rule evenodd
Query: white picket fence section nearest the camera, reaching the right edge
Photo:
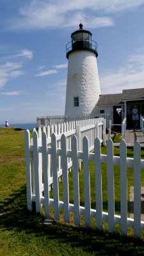
<svg viewBox="0 0 144 256"><path fill-rule="evenodd" d="M120 143L120 157L113 156L111 139L107 143L107 155L102 155L100 153L102 140L95 139L97 133L93 137L89 133L90 140L94 141L94 153L92 153L90 152L90 142L84 134L83 141L78 143L81 136L76 137L74 135L77 130L86 132L83 128L79 127L78 129L76 127L72 131L65 131L62 135L53 133L50 137L49 129L47 129L47 133L45 128L43 132L39 129L38 134L36 131L33 132L31 142L29 131L25 132L28 209L31 211L32 202L35 202L36 212L41 212L42 204L44 204L46 216L50 215L50 207L54 207L56 220L60 218L60 209L63 209L64 220L67 223L70 220L69 213L74 212L75 225L80 225L80 216L84 215L86 227L91 227L91 218L95 218L97 228L100 230L102 230L102 221L108 221L108 229L111 232L115 230L115 224L119 224L122 234L127 234L127 227L132 227L134 228L134 236L141 236L141 230L144 230L144 221L141 221L141 169L144 169L144 160L141 160L140 143L136 141L134 145L133 159L127 157L127 147L124 140ZM80 205L79 201L79 193L81 193L79 191L79 161L83 161L84 207ZM95 163L95 209L91 209L89 161ZM107 164L108 212L102 211L101 163ZM114 164L120 166L120 216L115 214ZM134 219L127 218L127 166L134 170ZM69 203L68 193L68 172L71 168L74 204ZM63 178L63 202L59 200L58 179L61 175ZM51 184L53 186L53 198L49 196Z"/></svg>

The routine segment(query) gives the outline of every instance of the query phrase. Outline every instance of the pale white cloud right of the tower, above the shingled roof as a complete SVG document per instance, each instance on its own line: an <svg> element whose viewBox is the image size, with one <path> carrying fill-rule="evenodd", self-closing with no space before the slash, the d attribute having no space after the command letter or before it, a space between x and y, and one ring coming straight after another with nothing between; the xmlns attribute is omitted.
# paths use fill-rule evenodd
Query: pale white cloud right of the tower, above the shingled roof
<svg viewBox="0 0 144 256"><path fill-rule="evenodd" d="M144 87L144 49L129 56L124 67L100 76L102 94L122 93L124 89Z"/></svg>

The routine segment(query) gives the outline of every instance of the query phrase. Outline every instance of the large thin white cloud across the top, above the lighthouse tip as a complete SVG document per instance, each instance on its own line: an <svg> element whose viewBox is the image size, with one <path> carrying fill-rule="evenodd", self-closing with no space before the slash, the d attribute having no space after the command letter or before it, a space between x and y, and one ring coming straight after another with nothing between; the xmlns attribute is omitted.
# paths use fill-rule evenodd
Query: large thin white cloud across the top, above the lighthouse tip
<svg viewBox="0 0 144 256"><path fill-rule="evenodd" d="M11 20L15 29L51 29L76 26L82 20L87 28L113 26L107 15L133 10L144 0L31 0L19 9L20 18Z"/></svg>

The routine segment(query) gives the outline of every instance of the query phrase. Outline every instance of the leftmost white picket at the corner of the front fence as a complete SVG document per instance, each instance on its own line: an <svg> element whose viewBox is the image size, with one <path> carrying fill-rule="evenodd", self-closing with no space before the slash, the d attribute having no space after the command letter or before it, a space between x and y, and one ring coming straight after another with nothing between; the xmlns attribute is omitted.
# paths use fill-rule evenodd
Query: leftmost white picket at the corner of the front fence
<svg viewBox="0 0 144 256"><path fill-rule="evenodd" d="M31 155L29 151L30 133L29 130L25 132L25 156L26 156L26 192L28 210L32 211L32 190L31 190Z"/></svg>

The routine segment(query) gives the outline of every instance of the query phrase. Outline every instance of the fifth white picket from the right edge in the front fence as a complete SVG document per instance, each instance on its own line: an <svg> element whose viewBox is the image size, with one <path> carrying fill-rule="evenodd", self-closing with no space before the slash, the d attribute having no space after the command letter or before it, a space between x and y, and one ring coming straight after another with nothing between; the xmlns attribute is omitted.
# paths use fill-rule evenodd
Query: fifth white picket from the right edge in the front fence
<svg viewBox="0 0 144 256"><path fill-rule="evenodd" d="M83 179L84 179L84 212L85 212L85 225L91 227L91 204L90 204L90 166L88 154L88 139L86 136L83 138Z"/></svg>

